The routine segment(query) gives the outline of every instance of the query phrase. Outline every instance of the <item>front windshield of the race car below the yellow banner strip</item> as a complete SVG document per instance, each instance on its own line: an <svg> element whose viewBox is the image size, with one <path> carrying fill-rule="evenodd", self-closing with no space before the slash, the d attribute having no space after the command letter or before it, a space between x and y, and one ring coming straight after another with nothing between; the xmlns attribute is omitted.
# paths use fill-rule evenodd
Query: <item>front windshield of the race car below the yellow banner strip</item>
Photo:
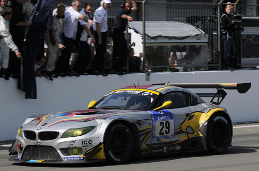
<svg viewBox="0 0 259 171"><path fill-rule="evenodd" d="M139 90L113 91L103 97L91 108L148 110L156 97L156 94Z"/></svg>

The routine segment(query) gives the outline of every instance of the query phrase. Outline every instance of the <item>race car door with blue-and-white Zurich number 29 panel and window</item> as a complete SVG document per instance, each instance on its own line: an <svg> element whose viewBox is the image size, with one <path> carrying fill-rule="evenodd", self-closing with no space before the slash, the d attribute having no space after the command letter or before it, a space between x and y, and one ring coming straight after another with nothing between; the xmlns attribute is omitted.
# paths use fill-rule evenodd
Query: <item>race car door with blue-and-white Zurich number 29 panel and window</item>
<svg viewBox="0 0 259 171"><path fill-rule="evenodd" d="M152 147L182 142L188 138L181 125L193 113L189 93L172 91L164 95L161 104L172 101L169 107L152 111Z"/></svg>

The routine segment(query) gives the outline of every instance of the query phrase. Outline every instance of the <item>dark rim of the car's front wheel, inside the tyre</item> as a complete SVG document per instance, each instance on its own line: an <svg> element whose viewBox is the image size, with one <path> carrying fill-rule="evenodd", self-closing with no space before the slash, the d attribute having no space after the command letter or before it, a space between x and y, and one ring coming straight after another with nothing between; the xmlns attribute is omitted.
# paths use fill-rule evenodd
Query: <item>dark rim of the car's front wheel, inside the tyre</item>
<svg viewBox="0 0 259 171"><path fill-rule="evenodd" d="M124 155L127 151L128 138L122 130L115 130L110 139L111 151L116 156Z"/></svg>

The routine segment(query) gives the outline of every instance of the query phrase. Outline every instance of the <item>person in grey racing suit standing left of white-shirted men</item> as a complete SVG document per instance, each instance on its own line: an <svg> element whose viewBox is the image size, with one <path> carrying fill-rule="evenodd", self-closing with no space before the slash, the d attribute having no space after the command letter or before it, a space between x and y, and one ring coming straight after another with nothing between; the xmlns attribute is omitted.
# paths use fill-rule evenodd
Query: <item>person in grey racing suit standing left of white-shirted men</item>
<svg viewBox="0 0 259 171"><path fill-rule="evenodd" d="M45 43L48 46L47 63L42 74L51 81L53 80L52 74L54 74L53 71L58 59L59 49L65 48L62 41L64 14L65 4L60 3L57 8L53 10L53 25L47 26L45 33ZM57 74L54 77L57 77Z"/></svg>

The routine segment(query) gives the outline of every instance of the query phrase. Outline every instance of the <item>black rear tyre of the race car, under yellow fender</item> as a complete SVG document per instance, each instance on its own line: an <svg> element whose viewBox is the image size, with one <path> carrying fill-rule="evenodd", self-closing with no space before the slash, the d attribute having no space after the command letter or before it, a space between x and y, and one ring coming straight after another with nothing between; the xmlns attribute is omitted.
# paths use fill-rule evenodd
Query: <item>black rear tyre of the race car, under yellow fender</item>
<svg viewBox="0 0 259 171"><path fill-rule="evenodd" d="M232 139L228 121L221 115L212 116L207 127L207 145L211 153L219 154L230 146Z"/></svg>

